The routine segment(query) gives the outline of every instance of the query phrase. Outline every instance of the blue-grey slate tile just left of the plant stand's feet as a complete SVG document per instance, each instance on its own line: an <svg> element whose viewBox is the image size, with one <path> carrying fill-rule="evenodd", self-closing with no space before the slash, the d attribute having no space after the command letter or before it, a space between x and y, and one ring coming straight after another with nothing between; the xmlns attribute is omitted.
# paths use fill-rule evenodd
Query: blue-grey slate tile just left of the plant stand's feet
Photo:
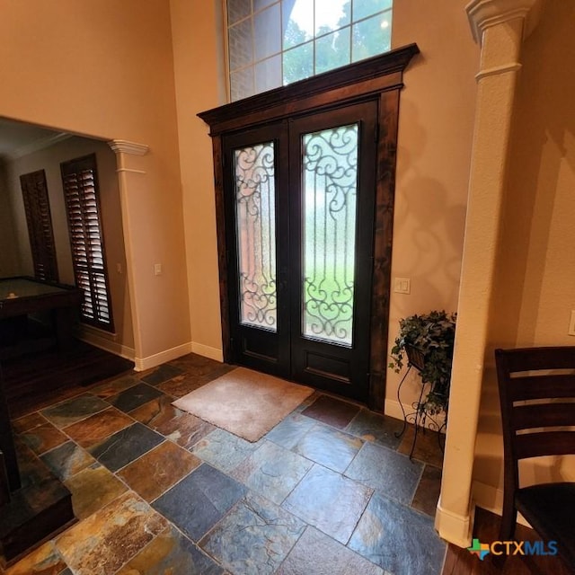
<svg viewBox="0 0 575 575"><path fill-rule="evenodd" d="M366 443L345 476L409 505L422 471L423 465L419 462L410 461L409 457L387 447Z"/></svg>

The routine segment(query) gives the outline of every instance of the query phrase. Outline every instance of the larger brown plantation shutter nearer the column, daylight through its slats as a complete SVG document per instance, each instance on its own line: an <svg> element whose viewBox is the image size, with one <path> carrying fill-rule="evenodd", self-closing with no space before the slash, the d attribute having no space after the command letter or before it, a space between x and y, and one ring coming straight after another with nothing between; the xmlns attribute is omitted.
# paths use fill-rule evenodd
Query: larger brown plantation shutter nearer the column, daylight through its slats
<svg viewBox="0 0 575 575"><path fill-rule="evenodd" d="M100 220L96 156L88 155L70 160L60 164L60 168L75 282L78 288L84 290L82 321L113 332Z"/></svg>

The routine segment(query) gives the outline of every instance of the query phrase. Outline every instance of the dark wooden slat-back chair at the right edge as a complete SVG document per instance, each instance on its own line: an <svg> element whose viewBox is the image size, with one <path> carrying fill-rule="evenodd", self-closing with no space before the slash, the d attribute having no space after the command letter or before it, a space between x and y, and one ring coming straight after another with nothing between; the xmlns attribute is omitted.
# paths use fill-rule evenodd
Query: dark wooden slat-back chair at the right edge
<svg viewBox="0 0 575 575"><path fill-rule="evenodd" d="M513 538L518 510L545 543L557 542L575 572L575 482L520 487L518 468L529 457L575 454L575 346L496 349L495 362L504 447L500 541Z"/></svg>

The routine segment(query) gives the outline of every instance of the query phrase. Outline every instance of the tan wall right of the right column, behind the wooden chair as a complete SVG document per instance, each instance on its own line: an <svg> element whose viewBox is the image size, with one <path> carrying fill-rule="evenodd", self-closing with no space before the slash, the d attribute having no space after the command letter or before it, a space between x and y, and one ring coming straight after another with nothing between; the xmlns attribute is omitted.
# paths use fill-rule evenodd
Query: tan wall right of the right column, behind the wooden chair
<svg viewBox="0 0 575 575"><path fill-rule="evenodd" d="M575 5L545 3L523 46L510 143L509 185L491 311L473 477L478 502L500 506L502 440L492 350L575 345L567 334L575 309ZM526 481L575 481L575 462L526 465Z"/></svg>

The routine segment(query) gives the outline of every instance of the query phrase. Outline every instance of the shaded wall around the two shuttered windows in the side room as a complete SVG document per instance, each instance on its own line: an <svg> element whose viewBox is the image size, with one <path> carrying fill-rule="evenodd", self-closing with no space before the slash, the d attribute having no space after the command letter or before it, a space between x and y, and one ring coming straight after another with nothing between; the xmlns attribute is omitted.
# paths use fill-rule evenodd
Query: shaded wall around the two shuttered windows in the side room
<svg viewBox="0 0 575 575"><path fill-rule="evenodd" d="M84 137L70 137L55 146L40 150L30 155L13 160L7 164L8 197L11 199L13 226L16 229L17 242L14 248L20 254L22 265L17 273L33 275L28 227L22 202L20 176L22 173L44 170L49 192L50 215L54 242L56 244L58 279L62 283L74 284L72 254L68 239L66 205L60 163L88 154L96 154L98 180L100 186L100 208L104 246L108 263L108 278L112 314L116 335L102 334L104 340L114 341L117 346L134 349L128 283L126 280L126 256L122 233L121 213L119 206L118 177L116 174L116 157L110 146L104 142ZM4 245L3 245L4 251ZM118 271L121 270L120 272Z"/></svg>

